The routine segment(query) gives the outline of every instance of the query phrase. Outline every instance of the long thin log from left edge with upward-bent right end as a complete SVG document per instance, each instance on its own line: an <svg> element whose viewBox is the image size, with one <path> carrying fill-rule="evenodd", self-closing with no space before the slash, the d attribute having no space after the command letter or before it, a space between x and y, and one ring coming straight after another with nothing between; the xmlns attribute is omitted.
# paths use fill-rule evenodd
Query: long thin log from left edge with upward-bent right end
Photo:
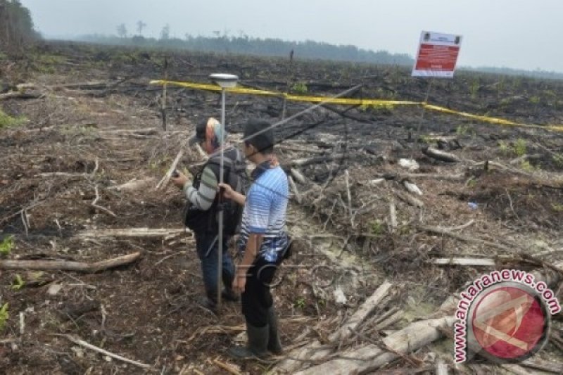
<svg viewBox="0 0 563 375"><path fill-rule="evenodd" d="M93 274L106 269L128 265L139 259L140 252L122 255L100 262L70 262L68 260L0 260L0 269L37 269L39 271L74 271Z"/></svg>

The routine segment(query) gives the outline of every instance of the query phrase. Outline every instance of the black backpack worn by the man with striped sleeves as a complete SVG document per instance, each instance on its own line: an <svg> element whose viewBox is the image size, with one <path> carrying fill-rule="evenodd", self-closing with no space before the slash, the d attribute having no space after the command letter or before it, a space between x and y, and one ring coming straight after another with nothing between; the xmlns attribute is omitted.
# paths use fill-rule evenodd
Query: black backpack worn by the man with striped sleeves
<svg viewBox="0 0 563 375"><path fill-rule="evenodd" d="M220 180L220 156L213 156L208 160L205 167L210 166L213 173ZM248 188L248 176L246 174L246 164L242 160L241 153L234 148L224 153L223 158L223 181L229 184L237 193L244 194ZM201 172L194 178L194 188L199 188ZM241 226L243 206L227 199L221 202L220 194L217 193L215 201L209 210L199 210L188 201L184 212L184 224L196 233L217 232L219 231L219 210L223 209L223 234L232 236L237 234Z"/></svg>

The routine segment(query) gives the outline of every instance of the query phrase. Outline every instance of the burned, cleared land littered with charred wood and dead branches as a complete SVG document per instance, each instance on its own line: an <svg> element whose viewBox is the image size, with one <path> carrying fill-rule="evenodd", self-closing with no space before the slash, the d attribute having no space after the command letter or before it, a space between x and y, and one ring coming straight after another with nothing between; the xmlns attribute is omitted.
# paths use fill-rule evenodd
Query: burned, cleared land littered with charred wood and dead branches
<svg viewBox="0 0 563 375"><path fill-rule="evenodd" d="M201 271L182 226L183 198L172 186L155 189L179 151L179 169L201 163L186 139L198 121L220 118L220 93L169 84L163 110L163 87L149 84L165 76L207 84L216 72L252 89L329 97L361 84L346 97L428 95L462 113L563 124L557 80L458 72L429 89L396 66L72 43L4 56L1 372L563 371L560 314L543 350L494 367L453 364L450 318L462 288L493 269L536 272L563 300L560 129L416 105L312 108L248 94L227 94L234 143L249 118L290 118L275 133L291 177L295 243L274 287L286 354L227 357L245 340L239 305L224 303L219 317L198 305ZM417 329L428 319L436 328ZM398 333L408 334L406 347Z"/></svg>

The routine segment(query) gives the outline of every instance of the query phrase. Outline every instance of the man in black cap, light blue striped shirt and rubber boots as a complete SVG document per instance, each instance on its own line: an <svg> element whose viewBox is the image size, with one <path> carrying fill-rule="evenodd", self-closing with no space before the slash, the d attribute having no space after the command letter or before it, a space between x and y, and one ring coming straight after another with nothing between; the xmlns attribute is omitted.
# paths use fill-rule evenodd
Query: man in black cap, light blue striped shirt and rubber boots
<svg viewBox="0 0 563 375"><path fill-rule="evenodd" d="M288 181L274 160L274 136L270 124L251 120L244 129L243 152L256 165L246 196L224 184L224 197L244 205L234 291L241 291L248 343L229 349L238 358L281 354L277 317L270 284L288 246L285 231Z"/></svg>

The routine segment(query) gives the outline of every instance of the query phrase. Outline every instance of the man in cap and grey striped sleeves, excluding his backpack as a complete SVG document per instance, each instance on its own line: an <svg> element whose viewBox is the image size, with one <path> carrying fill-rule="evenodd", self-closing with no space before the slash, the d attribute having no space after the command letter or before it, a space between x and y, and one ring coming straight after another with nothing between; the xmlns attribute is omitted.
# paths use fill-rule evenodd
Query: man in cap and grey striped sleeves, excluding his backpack
<svg viewBox="0 0 563 375"><path fill-rule="evenodd" d="M201 222L201 230L194 231L196 237L196 250L198 258L201 260L201 270L203 272L203 284L205 286L205 297L201 300L201 304L211 310L216 311L217 305L217 259L219 248L219 233L216 217L215 196L217 195L217 185L219 184L219 155L215 155L219 150L221 139L226 139L221 136L222 127L215 118L210 117L205 122L201 122L196 127L196 136L192 138L189 143L191 145L199 143L203 150L211 155L208 163L203 166L201 177L194 181L192 184L189 179L178 172L177 177L172 177L171 181L184 191L184 195L194 205L195 208L208 212L204 215ZM242 163L242 155L236 148L226 145L224 148L224 157L230 160L238 160ZM212 223L212 225L208 225ZM222 254L222 281L224 290L222 291L222 298L224 300L236 301L239 300L238 295L232 291L232 283L234 278L234 264L229 255L227 243L229 236L223 236L223 254Z"/></svg>

